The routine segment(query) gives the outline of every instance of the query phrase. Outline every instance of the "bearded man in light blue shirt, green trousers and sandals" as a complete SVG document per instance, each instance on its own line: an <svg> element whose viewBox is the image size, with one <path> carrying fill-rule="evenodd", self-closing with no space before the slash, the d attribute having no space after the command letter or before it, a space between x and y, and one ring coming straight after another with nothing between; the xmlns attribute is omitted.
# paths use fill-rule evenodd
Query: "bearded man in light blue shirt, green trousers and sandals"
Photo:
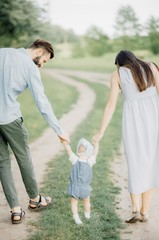
<svg viewBox="0 0 159 240"><path fill-rule="evenodd" d="M32 159L28 147L28 133L17 96L29 88L37 107L60 139L69 142L61 129L46 95L39 73L49 59L54 57L52 45L37 39L27 49L0 49L0 180L3 191L11 208L12 223L23 220L25 212L21 209L11 172L8 145L18 162L22 179L30 198L28 208L37 211L51 203L50 197L39 194Z"/></svg>

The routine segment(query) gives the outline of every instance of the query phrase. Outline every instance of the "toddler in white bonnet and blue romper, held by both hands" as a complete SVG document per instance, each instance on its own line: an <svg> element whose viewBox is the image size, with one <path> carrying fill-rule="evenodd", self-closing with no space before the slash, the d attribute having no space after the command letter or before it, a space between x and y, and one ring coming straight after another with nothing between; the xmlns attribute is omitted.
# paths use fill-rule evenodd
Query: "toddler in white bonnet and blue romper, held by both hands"
<svg viewBox="0 0 159 240"><path fill-rule="evenodd" d="M78 200L82 199L84 204L84 215L90 218L90 184L92 180L92 166L96 163L99 144L94 146L82 138L77 145L77 155L72 152L70 145L63 141L65 149L72 163L68 194L71 197L71 210L76 224L82 224L78 215Z"/></svg>

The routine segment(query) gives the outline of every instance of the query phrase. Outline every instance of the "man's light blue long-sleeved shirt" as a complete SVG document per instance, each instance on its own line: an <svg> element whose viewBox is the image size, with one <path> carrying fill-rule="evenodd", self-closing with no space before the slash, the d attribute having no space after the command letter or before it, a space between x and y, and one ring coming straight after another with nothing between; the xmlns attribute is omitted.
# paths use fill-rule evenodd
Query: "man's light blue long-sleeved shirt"
<svg viewBox="0 0 159 240"><path fill-rule="evenodd" d="M25 48L0 49L0 125L22 117L17 96L29 88L37 107L57 135L62 129L48 101L40 72Z"/></svg>

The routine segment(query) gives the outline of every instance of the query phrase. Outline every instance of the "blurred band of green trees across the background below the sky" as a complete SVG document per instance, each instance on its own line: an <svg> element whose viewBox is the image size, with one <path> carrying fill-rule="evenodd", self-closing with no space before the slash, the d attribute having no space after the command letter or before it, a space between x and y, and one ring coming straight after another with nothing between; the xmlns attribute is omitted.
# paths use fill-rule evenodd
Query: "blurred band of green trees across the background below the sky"
<svg viewBox="0 0 159 240"><path fill-rule="evenodd" d="M36 38L45 36L54 44L58 54L65 49L66 58L102 56L123 48L132 51L146 49L159 54L159 19L151 16L142 25L131 5L121 6L118 10L114 38L97 26L90 26L85 35L78 36L72 30L53 25L46 9L33 0L1 0L0 47L27 47Z"/></svg>

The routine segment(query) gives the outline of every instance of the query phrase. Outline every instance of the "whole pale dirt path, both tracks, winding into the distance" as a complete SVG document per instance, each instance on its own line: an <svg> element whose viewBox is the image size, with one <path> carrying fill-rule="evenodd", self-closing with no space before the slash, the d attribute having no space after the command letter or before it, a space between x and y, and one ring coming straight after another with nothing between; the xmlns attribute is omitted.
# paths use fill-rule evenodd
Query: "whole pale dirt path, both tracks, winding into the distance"
<svg viewBox="0 0 159 240"><path fill-rule="evenodd" d="M76 127L85 119L89 111L91 111L95 101L94 92L86 84L74 81L73 77L84 78L87 81L98 82L109 86L108 80L110 75L68 70L46 71L60 81L74 86L80 93L77 103L72 106L72 110L60 119L61 126L71 136ZM77 115L78 118L76 118ZM71 119L74 118L76 118L76 121L71 121ZM39 185L42 185L47 163L53 159L59 151L63 151L63 148L51 129L47 129L43 136L30 145L30 148L34 165L38 165L38 169L35 168L37 181ZM30 220L37 219L39 213L31 213L27 210L28 196L22 184L16 161L13 161L12 165L17 191L19 192L22 207L26 211L26 218L23 224L17 226L10 223L10 210L3 195L3 191L0 188L0 240L25 240L27 238L27 223ZM127 166L122 147L119 155L116 156L112 162L111 175L114 184L122 189L121 194L117 198L117 214L124 222L131 210L130 199L127 192ZM157 192L151 206L149 222L138 223L135 225L125 224L126 228L121 231L121 240L159 240L158 222L159 193Z"/></svg>

